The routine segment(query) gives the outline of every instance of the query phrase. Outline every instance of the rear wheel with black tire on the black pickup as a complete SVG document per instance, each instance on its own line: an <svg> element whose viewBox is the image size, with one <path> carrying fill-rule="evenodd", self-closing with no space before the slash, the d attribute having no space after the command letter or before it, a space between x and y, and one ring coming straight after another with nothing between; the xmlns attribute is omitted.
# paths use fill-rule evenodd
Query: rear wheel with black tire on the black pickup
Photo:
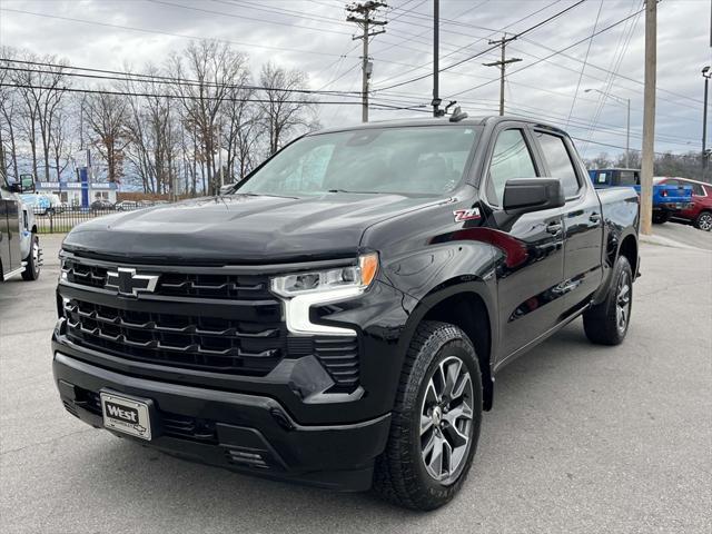
<svg viewBox="0 0 712 534"><path fill-rule="evenodd" d="M627 287L627 290L624 287ZM624 295L623 295L624 294ZM619 345L625 339L633 306L633 271L625 256L615 261L605 300L583 314L586 337L597 345ZM621 307L623 324L621 325Z"/></svg>

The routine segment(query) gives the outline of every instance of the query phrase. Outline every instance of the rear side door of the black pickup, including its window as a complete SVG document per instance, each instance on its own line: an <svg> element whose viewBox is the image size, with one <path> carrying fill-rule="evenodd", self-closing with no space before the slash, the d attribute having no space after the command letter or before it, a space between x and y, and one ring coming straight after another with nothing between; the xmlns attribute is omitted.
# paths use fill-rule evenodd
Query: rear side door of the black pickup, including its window
<svg viewBox="0 0 712 534"><path fill-rule="evenodd" d="M585 169L578 162L571 139L543 129L535 129L534 136L547 176L561 180L566 197L564 280L561 286L565 295L562 318L565 318L590 301L603 279L603 214L599 196L586 182ZM633 174L621 171L621 175L623 172Z"/></svg>

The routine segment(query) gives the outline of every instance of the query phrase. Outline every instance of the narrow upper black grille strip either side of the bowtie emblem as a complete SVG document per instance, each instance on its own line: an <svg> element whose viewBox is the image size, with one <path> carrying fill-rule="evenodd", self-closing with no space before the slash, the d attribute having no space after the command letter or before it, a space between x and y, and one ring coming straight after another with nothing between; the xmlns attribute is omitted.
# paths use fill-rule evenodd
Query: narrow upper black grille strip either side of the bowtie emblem
<svg viewBox="0 0 712 534"><path fill-rule="evenodd" d="M102 288L107 273L102 264L87 264L76 258L63 258L62 271L67 280L80 286ZM149 267L147 273L152 273ZM264 276L196 274L162 271L155 295L189 298L258 300L274 298Z"/></svg>

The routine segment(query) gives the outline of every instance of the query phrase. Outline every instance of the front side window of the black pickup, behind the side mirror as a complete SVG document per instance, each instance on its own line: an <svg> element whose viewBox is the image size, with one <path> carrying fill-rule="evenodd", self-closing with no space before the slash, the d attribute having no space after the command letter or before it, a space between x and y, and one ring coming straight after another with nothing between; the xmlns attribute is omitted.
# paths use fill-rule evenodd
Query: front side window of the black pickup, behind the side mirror
<svg viewBox="0 0 712 534"><path fill-rule="evenodd" d="M534 160L522 130L504 130L497 136L490 161L487 200L502 206L504 186L515 178L536 178Z"/></svg>

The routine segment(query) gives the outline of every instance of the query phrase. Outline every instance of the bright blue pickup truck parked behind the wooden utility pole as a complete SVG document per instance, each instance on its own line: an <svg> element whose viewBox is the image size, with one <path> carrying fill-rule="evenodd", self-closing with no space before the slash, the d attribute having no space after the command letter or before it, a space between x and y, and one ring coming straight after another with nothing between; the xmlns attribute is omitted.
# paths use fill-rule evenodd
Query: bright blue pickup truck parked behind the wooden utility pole
<svg viewBox="0 0 712 534"><path fill-rule="evenodd" d="M634 188L641 192L639 169L591 169L589 176L596 189L606 187ZM653 185L653 222L661 225L692 204L692 187L686 185Z"/></svg>

